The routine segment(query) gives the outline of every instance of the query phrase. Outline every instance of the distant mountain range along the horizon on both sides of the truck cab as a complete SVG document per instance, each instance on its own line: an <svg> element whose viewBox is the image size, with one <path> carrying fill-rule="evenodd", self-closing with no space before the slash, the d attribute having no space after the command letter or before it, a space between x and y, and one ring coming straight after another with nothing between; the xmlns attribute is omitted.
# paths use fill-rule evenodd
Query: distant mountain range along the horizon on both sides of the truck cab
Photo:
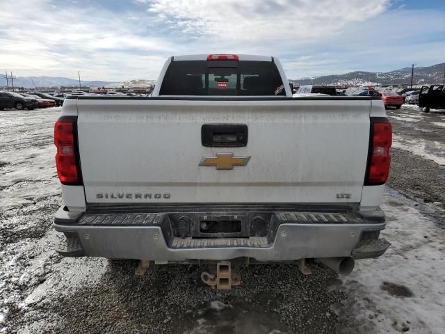
<svg viewBox="0 0 445 334"><path fill-rule="evenodd" d="M438 84L444 80L445 63L427 66L414 67L413 84ZM64 87L78 87L79 81L76 79L69 79L63 77L17 77L14 79L15 87L24 88L58 88ZM364 72L355 71L346 74L325 75L323 77L302 78L296 80L289 80L294 85L333 85L333 86L361 86L361 85L378 85L378 84L410 84L411 81L411 67L405 67L401 70L391 72ZM10 83L9 83L10 84ZM156 80L127 80L122 82L111 81L81 81L82 86L109 88L149 88L156 84ZM6 79L0 77L0 86L6 87Z"/></svg>

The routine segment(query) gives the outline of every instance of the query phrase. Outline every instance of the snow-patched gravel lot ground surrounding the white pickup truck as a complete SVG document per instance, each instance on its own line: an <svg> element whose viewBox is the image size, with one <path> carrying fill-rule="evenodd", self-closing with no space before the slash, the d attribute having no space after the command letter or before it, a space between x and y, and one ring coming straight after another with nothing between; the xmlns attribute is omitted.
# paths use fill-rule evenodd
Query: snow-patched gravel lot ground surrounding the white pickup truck
<svg viewBox="0 0 445 334"><path fill-rule="evenodd" d="M437 163L445 128L432 124L444 122L442 114L389 111L398 148L389 180L396 190L387 189L383 205L384 236L393 245L382 258L357 262L346 278L318 264L310 276L296 265L251 266L241 271L241 287L218 291L197 283L196 267L156 266L138 277L134 262L54 252L51 223L61 196L52 125L59 111L0 111L1 333L439 334L445 328L444 167ZM419 150L411 143L418 139L430 146Z"/></svg>

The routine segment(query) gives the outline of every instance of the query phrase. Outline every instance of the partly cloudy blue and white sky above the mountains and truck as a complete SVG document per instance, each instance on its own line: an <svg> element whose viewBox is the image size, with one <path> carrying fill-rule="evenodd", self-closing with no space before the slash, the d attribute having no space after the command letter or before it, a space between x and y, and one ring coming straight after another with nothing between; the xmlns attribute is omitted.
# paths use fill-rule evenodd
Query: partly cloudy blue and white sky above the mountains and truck
<svg viewBox="0 0 445 334"><path fill-rule="evenodd" d="M0 71L17 77L156 79L176 54L277 56L290 79L445 62L445 0L0 4Z"/></svg>

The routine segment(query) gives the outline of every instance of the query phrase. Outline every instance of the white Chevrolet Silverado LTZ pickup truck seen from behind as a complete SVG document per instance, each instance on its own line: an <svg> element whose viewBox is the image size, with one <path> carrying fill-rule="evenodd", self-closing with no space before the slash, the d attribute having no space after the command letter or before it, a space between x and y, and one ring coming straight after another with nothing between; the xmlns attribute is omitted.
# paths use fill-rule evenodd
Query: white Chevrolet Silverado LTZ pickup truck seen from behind
<svg viewBox="0 0 445 334"><path fill-rule="evenodd" d="M216 265L223 288L234 263L349 273L389 246L382 101L293 97L277 58L172 56L150 97L67 97L54 139L65 256Z"/></svg>

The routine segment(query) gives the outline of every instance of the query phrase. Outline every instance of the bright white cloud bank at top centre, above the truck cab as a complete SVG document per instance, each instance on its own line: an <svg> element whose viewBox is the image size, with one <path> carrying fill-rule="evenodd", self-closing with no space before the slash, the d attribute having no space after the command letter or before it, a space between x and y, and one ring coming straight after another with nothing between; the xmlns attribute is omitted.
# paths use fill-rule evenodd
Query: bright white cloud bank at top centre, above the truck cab
<svg viewBox="0 0 445 334"><path fill-rule="evenodd" d="M307 42L329 38L349 22L382 13L389 0L154 0L149 13L168 19L177 33L210 36L216 41Z"/></svg>

